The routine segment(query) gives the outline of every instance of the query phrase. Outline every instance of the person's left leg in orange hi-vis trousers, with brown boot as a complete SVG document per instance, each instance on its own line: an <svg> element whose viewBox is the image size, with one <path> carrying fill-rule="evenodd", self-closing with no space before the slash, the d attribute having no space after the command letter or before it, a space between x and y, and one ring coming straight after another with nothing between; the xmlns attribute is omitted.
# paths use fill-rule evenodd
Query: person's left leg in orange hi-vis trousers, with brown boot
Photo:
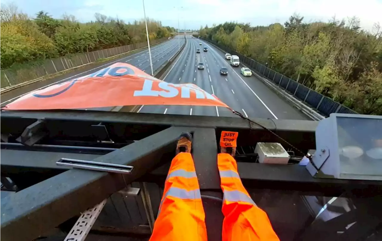
<svg viewBox="0 0 382 241"><path fill-rule="evenodd" d="M168 171L150 241L207 241L205 214L193 158L192 137L182 133Z"/></svg>

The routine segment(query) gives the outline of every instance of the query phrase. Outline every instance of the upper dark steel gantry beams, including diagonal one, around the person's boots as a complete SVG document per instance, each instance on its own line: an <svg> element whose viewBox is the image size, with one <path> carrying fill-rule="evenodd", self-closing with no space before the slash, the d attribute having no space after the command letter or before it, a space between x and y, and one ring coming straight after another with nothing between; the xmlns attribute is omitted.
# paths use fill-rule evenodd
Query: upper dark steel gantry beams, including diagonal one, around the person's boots
<svg viewBox="0 0 382 241"><path fill-rule="evenodd" d="M314 132L318 122L253 120L305 153L315 149ZM31 134L21 138L26 130ZM133 181L162 186L175 156L176 140L185 131L193 134L193 157L202 192L219 191L216 155L222 130L239 132L238 146L243 148L259 141L280 142L285 148L291 148L262 127L249 125L247 120L235 117L76 110L0 112L0 134L3 137L0 175L10 177L21 190L0 199L0 240L36 238ZM61 158L134 168L123 178L122 174L57 166L55 163ZM238 171L247 188L327 196L382 194L380 182L315 179L299 165L265 165L238 160ZM151 209L149 207L147 211L152 226ZM20 227L23 232L19 231Z"/></svg>

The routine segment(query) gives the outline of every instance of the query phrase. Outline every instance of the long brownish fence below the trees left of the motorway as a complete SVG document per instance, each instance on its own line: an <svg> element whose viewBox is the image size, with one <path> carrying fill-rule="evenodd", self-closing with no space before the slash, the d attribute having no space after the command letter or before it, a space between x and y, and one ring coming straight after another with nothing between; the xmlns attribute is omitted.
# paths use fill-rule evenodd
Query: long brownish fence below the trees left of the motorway
<svg viewBox="0 0 382 241"><path fill-rule="evenodd" d="M155 39L151 40L150 43L151 45L154 45L167 39L168 38ZM65 71L74 67L95 62L98 59L120 55L146 46L147 42L133 43L120 47L66 55L60 58L45 59L33 64L27 63L22 67L0 70L0 89L11 85L21 84L28 80L39 79L48 74Z"/></svg>

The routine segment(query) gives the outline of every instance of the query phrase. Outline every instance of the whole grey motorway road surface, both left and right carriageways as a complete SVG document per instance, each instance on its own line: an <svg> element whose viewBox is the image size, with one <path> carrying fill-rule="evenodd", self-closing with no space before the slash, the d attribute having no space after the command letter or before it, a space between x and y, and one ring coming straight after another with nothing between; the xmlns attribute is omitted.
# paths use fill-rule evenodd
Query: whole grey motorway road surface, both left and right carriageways
<svg viewBox="0 0 382 241"><path fill-rule="evenodd" d="M176 53L178 50L178 38L180 38L180 46L182 46L184 37L176 36L170 41L151 48L154 71ZM199 42L202 42L202 45L199 45ZM203 51L204 46L208 47L207 52ZM201 53L196 53L197 48L201 50ZM129 63L147 73L151 73L149 53L148 50L144 50L117 60L107 61L101 66L87 71L78 70L64 76L58 76L11 90L0 96L0 105L3 106L9 101L19 98L24 93L91 74L117 62ZM197 69L197 63L199 62L204 63L204 70ZM220 67L222 66L228 68L228 76L220 76ZM184 50L163 80L173 84L196 84L207 92L216 95L220 100L236 111L241 112L244 116L265 119L308 119L300 111L294 109L278 97L261 80L257 79L255 75L252 77L242 76L240 74L240 67L231 67L229 61L225 60L222 51L209 43L187 35L187 43ZM94 109L108 111L111 108ZM238 117L227 108L214 106L142 106L138 112Z"/></svg>

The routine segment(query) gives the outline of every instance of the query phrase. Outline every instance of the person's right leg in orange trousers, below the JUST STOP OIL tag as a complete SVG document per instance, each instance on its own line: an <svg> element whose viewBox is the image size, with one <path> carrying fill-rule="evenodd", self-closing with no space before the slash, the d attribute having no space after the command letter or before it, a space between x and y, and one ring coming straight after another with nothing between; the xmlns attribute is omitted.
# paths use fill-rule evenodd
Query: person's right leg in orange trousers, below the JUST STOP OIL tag
<svg viewBox="0 0 382 241"><path fill-rule="evenodd" d="M223 147L223 144L221 141L220 153L217 156L220 186L223 190L223 241L278 241L267 214L256 206L241 183L233 158L236 141L228 148Z"/></svg>

